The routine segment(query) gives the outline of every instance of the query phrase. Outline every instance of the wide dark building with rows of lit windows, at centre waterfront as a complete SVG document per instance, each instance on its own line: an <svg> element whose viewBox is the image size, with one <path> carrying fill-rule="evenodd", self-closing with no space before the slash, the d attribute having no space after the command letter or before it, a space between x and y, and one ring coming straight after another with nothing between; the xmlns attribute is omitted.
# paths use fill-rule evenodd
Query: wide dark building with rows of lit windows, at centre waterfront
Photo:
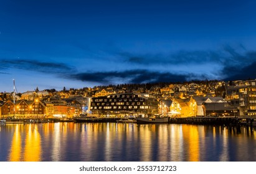
<svg viewBox="0 0 256 174"><path fill-rule="evenodd" d="M103 116L116 116L123 114L136 114L146 117L158 114L158 100L151 94L109 94L92 98L91 110L93 114Z"/></svg>

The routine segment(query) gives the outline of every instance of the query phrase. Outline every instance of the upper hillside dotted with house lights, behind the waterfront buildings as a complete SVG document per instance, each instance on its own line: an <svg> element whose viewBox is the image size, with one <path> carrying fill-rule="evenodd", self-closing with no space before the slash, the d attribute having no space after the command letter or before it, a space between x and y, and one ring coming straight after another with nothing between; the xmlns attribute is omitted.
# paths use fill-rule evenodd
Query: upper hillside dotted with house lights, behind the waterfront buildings
<svg viewBox="0 0 256 174"><path fill-rule="evenodd" d="M120 85L102 85L94 86L93 88L84 87L80 89L65 87L57 91L56 89L43 89L38 88L34 91L26 91L25 93L17 93L17 98L21 99L32 99L36 96L40 98L47 98L49 96L60 96L61 98L68 98L69 96L104 96L107 94L115 93L153 93L156 95L164 94L165 98L168 98L168 93L174 93L179 91L187 91L189 93L196 92L201 95L213 94L213 90L217 90L217 96L220 96L223 89L220 89L219 84L224 84L224 81L218 80L198 80L198 81L187 81L181 83L143 83L143 84L120 84ZM0 93L0 100L5 101L11 99L13 93Z"/></svg>

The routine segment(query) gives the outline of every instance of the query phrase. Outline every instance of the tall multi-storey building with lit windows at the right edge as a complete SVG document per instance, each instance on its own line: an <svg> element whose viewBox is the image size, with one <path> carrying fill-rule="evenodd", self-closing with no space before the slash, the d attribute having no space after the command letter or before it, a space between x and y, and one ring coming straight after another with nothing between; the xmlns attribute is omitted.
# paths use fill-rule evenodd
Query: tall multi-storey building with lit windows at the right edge
<svg viewBox="0 0 256 174"><path fill-rule="evenodd" d="M256 80L229 81L226 100L236 116L256 116Z"/></svg>

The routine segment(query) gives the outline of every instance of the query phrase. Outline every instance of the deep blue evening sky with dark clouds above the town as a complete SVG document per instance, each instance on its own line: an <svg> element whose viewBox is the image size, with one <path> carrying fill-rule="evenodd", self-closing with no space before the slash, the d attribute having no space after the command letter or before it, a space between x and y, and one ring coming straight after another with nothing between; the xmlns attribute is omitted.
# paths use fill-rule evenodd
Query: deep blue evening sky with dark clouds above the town
<svg viewBox="0 0 256 174"><path fill-rule="evenodd" d="M0 0L0 91L256 78L256 1Z"/></svg>

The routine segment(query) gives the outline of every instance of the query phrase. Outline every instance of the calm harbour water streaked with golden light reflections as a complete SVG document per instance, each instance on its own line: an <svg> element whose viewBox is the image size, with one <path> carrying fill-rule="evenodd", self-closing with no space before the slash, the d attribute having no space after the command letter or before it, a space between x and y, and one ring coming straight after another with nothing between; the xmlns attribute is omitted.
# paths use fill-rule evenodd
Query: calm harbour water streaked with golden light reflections
<svg viewBox="0 0 256 174"><path fill-rule="evenodd" d="M186 124L0 125L0 161L253 161L256 131Z"/></svg>

